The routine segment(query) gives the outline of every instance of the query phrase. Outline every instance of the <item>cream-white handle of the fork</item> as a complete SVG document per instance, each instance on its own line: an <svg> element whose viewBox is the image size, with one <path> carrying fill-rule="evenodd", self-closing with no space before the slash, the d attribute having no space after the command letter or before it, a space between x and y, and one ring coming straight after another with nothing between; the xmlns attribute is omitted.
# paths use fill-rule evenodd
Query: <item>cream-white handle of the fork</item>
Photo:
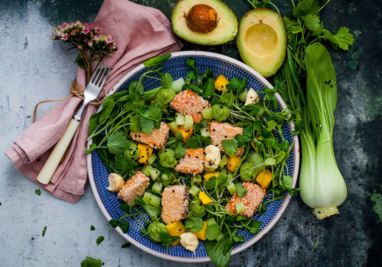
<svg viewBox="0 0 382 267"><path fill-rule="evenodd" d="M64 155L66 149L68 148L70 141L76 130L80 125L80 122L71 119L68 126L65 129L64 134L61 136L60 140L58 140L56 146L53 148L52 153L50 153L48 160L45 162L42 167L40 173L37 176L37 180L43 184L48 184L50 179L53 177L54 172L57 169L57 166L60 163L62 156Z"/></svg>

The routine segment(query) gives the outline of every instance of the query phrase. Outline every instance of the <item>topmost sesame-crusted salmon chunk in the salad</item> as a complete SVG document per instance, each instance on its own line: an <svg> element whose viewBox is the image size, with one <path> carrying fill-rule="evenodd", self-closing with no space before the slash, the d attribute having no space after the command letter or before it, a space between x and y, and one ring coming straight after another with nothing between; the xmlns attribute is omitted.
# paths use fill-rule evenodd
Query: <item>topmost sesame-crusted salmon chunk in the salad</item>
<svg viewBox="0 0 382 267"><path fill-rule="evenodd" d="M174 99L170 102L170 106L181 114L192 115L193 122L198 123L203 119L201 113L203 109L210 108L211 105L203 97L192 91L186 89L175 95Z"/></svg>

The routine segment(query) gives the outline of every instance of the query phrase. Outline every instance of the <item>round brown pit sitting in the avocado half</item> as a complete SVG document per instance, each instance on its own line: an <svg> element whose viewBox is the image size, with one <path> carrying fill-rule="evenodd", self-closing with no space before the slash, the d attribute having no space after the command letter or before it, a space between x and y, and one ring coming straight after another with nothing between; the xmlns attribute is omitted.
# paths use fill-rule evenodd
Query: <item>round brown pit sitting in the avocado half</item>
<svg viewBox="0 0 382 267"><path fill-rule="evenodd" d="M196 4L187 13L186 23L191 31L208 33L217 26L217 12L207 4Z"/></svg>

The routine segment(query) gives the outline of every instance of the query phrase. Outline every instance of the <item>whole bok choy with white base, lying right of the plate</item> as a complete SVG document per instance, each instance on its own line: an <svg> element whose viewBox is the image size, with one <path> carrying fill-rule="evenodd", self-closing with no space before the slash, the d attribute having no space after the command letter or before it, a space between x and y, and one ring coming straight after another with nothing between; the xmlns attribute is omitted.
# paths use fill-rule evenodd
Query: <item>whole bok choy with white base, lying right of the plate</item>
<svg viewBox="0 0 382 267"><path fill-rule="evenodd" d="M322 219L338 213L337 206L347 195L333 151L336 73L329 52L319 43L307 47L305 65L307 109L303 110L304 128L300 132L302 166L299 187L302 200L314 208L318 219Z"/></svg>

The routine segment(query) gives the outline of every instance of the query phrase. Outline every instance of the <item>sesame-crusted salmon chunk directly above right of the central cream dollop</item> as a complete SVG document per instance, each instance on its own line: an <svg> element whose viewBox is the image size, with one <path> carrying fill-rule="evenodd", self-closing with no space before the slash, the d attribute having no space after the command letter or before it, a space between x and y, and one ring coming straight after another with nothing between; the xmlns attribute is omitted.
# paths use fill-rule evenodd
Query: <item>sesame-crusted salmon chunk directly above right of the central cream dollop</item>
<svg viewBox="0 0 382 267"><path fill-rule="evenodd" d="M233 139L237 134L243 134L243 128L235 125L231 125L225 122L211 121L209 123L210 135L212 145L217 145L220 151L224 152L221 146L222 140ZM241 155L244 151L244 146L236 150L236 155Z"/></svg>

